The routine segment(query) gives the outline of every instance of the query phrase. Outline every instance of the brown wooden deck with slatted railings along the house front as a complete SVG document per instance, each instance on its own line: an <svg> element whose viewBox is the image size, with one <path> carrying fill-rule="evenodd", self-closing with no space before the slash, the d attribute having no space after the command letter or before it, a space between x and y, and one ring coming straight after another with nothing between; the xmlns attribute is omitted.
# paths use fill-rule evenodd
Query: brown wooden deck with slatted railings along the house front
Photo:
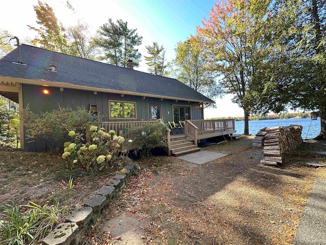
<svg viewBox="0 0 326 245"><path fill-rule="evenodd" d="M138 127L142 124L152 123L154 121L104 121L100 125L100 128L104 128L106 132L114 130L119 136L124 136L126 140L132 139L133 135L128 133L129 128ZM171 132L166 131L165 140L168 143L167 153L171 154L171 139L186 137L198 144L200 139L212 138L221 135L231 135L235 133L234 119L220 119L220 120L185 120L184 121L184 134L180 134L179 131ZM133 144L131 149L137 148L137 145Z"/></svg>

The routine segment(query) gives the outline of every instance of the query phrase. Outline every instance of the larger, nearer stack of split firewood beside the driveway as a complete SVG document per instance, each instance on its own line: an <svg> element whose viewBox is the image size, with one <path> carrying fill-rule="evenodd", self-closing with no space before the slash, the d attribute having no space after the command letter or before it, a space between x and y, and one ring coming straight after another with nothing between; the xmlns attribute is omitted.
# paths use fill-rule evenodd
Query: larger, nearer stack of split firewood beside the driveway
<svg viewBox="0 0 326 245"><path fill-rule="evenodd" d="M301 125L288 127L276 127L265 129L262 145L264 159L260 163L264 165L279 165L288 152L293 151L302 143Z"/></svg>

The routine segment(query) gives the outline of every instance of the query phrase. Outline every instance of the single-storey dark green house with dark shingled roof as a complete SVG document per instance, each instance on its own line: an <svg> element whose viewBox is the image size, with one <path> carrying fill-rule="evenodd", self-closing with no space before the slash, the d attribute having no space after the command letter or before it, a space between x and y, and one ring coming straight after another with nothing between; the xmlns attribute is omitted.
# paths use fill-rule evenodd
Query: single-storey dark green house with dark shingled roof
<svg viewBox="0 0 326 245"><path fill-rule="evenodd" d="M133 70L132 61L123 68L25 44L0 60L0 94L17 102L19 110L29 105L36 113L85 106L104 115L103 125L115 125L115 130L158 118L197 127L197 121L203 123L203 104L214 103L176 79ZM203 130L206 126L201 125ZM234 121L228 127L234 130ZM26 140L23 132L21 123L21 148L44 150L41 142ZM193 140L197 143L198 138Z"/></svg>

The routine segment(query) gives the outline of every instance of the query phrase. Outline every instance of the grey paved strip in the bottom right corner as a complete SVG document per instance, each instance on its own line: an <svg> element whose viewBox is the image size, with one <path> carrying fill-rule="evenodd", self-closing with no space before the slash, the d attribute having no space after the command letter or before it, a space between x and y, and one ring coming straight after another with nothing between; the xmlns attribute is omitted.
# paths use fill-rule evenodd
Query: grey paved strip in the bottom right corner
<svg viewBox="0 0 326 245"><path fill-rule="evenodd" d="M312 185L294 245L326 245L326 180L316 179Z"/></svg>

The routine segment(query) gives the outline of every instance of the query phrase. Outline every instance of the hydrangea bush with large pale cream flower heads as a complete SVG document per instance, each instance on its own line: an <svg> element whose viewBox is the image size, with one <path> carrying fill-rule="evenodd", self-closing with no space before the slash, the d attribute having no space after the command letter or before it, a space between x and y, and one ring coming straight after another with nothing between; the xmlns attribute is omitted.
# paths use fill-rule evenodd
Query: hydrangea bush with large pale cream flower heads
<svg viewBox="0 0 326 245"><path fill-rule="evenodd" d="M105 133L102 130L97 131L96 126L91 126L86 144L80 142L74 131L68 135L71 142L64 143L64 153L62 158L66 159L68 168L74 168L75 164L81 164L86 170L92 170L97 173L103 168L120 169L125 163L127 150L122 150L124 138L116 136L115 131ZM132 143L128 142L129 144Z"/></svg>

